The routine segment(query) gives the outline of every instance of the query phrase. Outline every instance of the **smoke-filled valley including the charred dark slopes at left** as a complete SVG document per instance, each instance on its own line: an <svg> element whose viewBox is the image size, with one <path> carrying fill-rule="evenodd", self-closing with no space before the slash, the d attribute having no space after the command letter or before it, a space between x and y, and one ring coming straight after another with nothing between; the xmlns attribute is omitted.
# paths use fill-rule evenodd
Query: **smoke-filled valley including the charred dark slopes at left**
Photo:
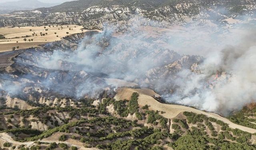
<svg viewBox="0 0 256 150"><path fill-rule="evenodd" d="M122 86L146 87L167 102L227 115L256 98L253 22L246 18L228 26L168 28L132 22L123 32L108 25L102 32L80 35L82 39L7 52L1 57L12 59L2 67L1 94L79 99L102 91L111 96Z"/></svg>

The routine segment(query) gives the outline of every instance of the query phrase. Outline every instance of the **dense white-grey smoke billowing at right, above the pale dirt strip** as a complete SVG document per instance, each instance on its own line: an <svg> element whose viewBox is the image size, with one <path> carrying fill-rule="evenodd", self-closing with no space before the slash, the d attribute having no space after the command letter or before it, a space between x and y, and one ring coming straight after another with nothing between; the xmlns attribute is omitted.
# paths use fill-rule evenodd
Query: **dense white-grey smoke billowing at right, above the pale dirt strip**
<svg viewBox="0 0 256 150"><path fill-rule="evenodd" d="M224 115L255 102L256 94L256 31L244 31L238 43L214 48L202 64L200 73L182 70L175 83L178 92L167 94L171 102L195 106Z"/></svg>

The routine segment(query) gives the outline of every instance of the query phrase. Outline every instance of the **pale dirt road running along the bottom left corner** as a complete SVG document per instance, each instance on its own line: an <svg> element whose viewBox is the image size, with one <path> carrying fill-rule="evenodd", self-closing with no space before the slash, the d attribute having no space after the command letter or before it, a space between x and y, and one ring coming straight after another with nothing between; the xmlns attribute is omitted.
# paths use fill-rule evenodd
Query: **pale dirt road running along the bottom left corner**
<svg viewBox="0 0 256 150"><path fill-rule="evenodd" d="M26 146L32 146L34 144L34 142L17 142L12 140L12 138L7 134L7 133L1 133L0 134L0 140L4 140L6 142L12 143L12 144L16 144L16 145L26 145ZM80 150L98 150L97 148L84 148L78 145L74 145L72 143L69 142L62 142L62 141L52 141L52 140L38 140L39 142L47 142L47 143L53 143L56 142L57 144L59 143L65 143L68 146L76 146L78 149Z"/></svg>

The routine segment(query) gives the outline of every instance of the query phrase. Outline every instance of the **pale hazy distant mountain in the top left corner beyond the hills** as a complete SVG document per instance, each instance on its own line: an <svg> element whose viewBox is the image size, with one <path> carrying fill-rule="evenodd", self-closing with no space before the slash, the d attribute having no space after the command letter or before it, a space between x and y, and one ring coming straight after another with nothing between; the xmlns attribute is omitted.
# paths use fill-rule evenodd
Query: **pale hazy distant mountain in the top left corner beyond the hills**
<svg viewBox="0 0 256 150"><path fill-rule="evenodd" d="M41 8L52 7L59 3L44 3L38 0L19 0L17 2L4 2L0 3L0 8L22 9L22 8Z"/></svg>

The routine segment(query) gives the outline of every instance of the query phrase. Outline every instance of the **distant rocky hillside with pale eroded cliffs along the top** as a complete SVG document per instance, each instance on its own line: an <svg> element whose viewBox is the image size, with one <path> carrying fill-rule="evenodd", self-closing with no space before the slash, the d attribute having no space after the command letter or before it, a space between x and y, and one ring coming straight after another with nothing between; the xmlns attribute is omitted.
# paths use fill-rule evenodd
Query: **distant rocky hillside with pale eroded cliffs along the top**
<svg viewBox="0 0 256 150"><path fill-rule="evenodd" d="M253 0L78 0L50 8L2 15L0 27L78 24L87 29L102 29L103 24L116 22L119 22L119 26L140 22L143 25L166 27L198 20L209 20L211 24L219 26L226 24L223 20L228 18L254 16L255 10ZM138 15L144 20L136 17Z"/></svg>

